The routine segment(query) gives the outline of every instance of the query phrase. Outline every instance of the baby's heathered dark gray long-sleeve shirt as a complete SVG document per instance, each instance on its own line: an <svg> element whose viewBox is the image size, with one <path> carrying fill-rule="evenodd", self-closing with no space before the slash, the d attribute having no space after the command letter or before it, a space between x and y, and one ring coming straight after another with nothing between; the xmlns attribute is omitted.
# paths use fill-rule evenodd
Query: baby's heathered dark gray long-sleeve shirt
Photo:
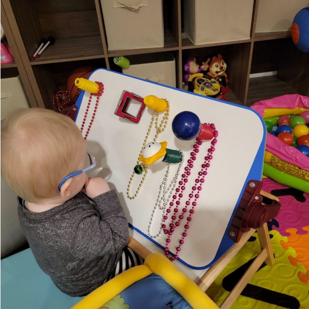
<svg viewBox="0 0 309 309"><path fill-rule="evenodd" d="M93 201L79 193L33 213L18 198L19 221L38 265L70 296L102 285L128 243L128 224L115 190Z"/></svg>

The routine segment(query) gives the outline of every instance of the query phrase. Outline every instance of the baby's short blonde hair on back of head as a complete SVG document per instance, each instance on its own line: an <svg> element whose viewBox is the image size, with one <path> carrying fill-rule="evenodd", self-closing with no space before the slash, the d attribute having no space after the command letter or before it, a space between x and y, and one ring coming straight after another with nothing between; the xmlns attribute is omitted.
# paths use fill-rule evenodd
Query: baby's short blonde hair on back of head
<svg viewBox="0 0 309 309"><path fill-rule="evenodd" d="M85 140L69 117L42 108L20 109L1 129L1 173L18 196L35 202L57 194L76 171Z"/></svg>

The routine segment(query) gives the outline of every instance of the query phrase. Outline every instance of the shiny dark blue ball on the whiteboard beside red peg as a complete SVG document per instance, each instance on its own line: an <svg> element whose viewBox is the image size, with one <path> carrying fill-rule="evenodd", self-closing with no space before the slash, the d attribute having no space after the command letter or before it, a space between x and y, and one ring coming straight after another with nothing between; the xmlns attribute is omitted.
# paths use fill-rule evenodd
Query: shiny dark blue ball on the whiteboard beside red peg
<svg viewBox="0 0 309 309"><path fill-rule="evenodd" d="M173 119L172 130L179 140L190 141L199 134L201 122L194 113L181 112Z"/></svg>

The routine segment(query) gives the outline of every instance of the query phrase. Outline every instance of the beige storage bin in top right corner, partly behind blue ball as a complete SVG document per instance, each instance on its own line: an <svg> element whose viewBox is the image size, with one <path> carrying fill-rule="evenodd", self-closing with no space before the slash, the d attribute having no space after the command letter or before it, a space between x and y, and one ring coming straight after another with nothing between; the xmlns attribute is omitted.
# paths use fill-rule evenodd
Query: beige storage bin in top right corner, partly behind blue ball
<svg viewBox="0 0 309 309"><path fill-rule="evenodd" d="M309 0L260 0L255 32L289 31L297 12L306 7Z"/></svg>

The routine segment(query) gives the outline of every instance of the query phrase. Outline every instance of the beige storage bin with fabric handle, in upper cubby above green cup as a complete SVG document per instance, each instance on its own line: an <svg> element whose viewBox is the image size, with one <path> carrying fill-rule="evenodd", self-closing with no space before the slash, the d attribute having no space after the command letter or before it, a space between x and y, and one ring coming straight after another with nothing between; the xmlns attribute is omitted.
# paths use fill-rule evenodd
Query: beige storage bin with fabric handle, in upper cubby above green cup
<svg viewBox="0 0 309 309"><path fill-rule="evenodd" d="M164 46L162 0L101 0L109 50Z"/></svg>

